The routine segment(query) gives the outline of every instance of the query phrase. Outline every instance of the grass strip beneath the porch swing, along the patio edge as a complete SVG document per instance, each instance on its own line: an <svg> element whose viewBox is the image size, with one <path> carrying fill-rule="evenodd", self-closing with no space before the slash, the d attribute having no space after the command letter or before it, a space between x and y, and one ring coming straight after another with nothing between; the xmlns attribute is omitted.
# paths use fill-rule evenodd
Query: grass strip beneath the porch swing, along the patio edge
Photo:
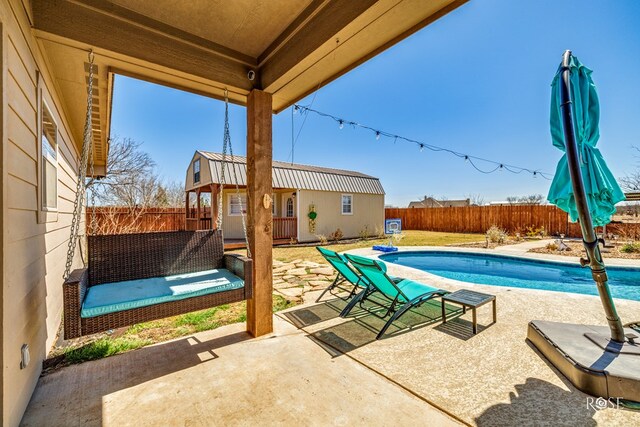
<svg viewBox="0 0 640 427"><path fill-rule="evenodd" d="M273 312L292 307L295 302L279 295L273 296ZM224 304L206 310L195 311L180 316L168 317L147 323L133 325L119 330L113 335L99 334L89 341L74 342L68 347L56 348L45 361L45 372L57 368L101 359L141 348L149 344L188 336L196 332L215 329L246 320L246 302Z"/></svg>

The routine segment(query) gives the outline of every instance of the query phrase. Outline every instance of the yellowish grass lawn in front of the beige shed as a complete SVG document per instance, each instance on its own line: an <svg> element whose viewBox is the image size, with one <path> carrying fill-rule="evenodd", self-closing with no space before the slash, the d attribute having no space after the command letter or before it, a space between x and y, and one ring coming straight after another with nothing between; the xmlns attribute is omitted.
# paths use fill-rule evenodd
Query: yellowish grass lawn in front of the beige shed
<svg viewBox="0 0 640 427"><path fill-rule="evenodd" d="M419 231L406 230L402 234L404 238L395 243L396 246L445 246L458 243L469 243L484 241L484 234L462 234L462 233L440 233L436 231ZM332 243L327 246L336 252L348 251L358 248L370 248L373 245L388 244L389 239L361 240L353 243ZM238 250L238 253L244 253L244 250ZM305 247L288 247L276 246L273 248L273 259L278 261L293 261L302 259L313 262L325 262L324 258L313 246Z"/></svg>

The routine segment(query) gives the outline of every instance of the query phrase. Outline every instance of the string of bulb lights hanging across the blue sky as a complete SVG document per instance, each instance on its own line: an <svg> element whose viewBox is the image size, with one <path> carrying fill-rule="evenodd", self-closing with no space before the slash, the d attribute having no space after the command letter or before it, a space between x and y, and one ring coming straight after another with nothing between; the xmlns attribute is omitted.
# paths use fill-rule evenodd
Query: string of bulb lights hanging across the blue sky
<svg viewBox="0 0 640 427"><path fill-rule="evenodd" d="M442 151L445 153L449 153L452 154L458 158L464 159L465 163L469 163L475 170L477 170L480 173L484 173L484 174L490 174L496 171L502 172L504 170L507 170L508 172L514 173L514 174L519 174L522 172L526 172L526 173L530 173L534 178L537 178L538 176L541 176L542 178L546 179L546 180L551 180L551 178L553 177L552 174L546 173L546 172L541 172L539 170L534 170L534 169L529 169L529 168L525 168L522 166L514 166L514 165L509 165L506 163L501 163L501 162L497 162L495 160L490 160L490 159L486 159L483 157L478 157L478 156L472 156L470 154L465 154L465 153L460 153L458 151L455 150L451 150L449 148L444 148L444 147L439 147L437 145L432 145L432 144L427 144L426 142L422 142L422 141L417 141L415 139L411 139L411 138L407 138L404 136L400 136L400 135L396 135L396 134L392 134L389 132L385 132L383 130L380 129L375 129L373 127L367 126L367 125L363 125L357 122L353 122L353 121L346 121L345 119L342 119L340 117L336 117L332 114L328 114L328 113L324 113L322 111L318 111L318 110L314 110L313 108L311 108L310 106L304 106L304 105L299 105L299 104L294 104L294 108L295 111L299 111L300 114L304 114L304 113L314 113L320 117L325 117L325 118L329 118L332 119L334 121L336 121L338 123L338 127L340 129L344 128L344 124L347 123L351 126L353 126L354 128L359 127L361 129L365 129L368 130L370 132L373 132L373 134L375 135L376 141L380 140L380 137L384 136L385 138L391 138L393 139L393 143L395 144L396 142L398 142L398 140L402 140L404 142L408 142L408 143L412 143L418 146L418 148L420 149L420 151L424 151L424 149L428 149L431 151ZM489 165L493 165L493 168L482 168L479 167L476 162L482 162L485 164L489 164Z"/></svg>

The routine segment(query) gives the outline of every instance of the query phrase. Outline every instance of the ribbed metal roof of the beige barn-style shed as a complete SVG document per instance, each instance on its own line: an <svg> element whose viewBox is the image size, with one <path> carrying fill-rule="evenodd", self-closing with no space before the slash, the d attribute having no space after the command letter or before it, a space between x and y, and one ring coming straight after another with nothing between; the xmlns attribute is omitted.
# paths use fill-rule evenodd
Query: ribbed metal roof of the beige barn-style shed
<svg viewBox="0 0 640 427"><path fill-rule="evenodd" d="M209 168L214 184L222 180L222 154L198 150L202 157L209 159ZM233 156L238 176L238 184L247 184L247 159ZM301 165L273 161L273 187L300 190L340 191L349 193L384 194L380 180L360 172L332 169L320 166ZM225 183L235 185L235 177L227 155Z"/></svg>

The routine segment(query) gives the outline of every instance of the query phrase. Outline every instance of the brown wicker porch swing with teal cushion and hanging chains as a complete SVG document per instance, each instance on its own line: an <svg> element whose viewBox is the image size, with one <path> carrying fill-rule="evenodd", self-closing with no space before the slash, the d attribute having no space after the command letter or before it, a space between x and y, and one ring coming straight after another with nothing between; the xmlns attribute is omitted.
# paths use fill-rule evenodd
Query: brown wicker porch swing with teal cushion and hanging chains
<svg viewBox="0 0 640 427"><path fill-rule="evenodd" d="M251 298L252 261L224 253L221 224L206 231L98 235L91 220L86 265L71 271L81 237L87 168L93 174L93 73L90 52L87 114L63 284L65 339ZM223 151L228 147L234 164L226 90L225 107Z"/></svg>

